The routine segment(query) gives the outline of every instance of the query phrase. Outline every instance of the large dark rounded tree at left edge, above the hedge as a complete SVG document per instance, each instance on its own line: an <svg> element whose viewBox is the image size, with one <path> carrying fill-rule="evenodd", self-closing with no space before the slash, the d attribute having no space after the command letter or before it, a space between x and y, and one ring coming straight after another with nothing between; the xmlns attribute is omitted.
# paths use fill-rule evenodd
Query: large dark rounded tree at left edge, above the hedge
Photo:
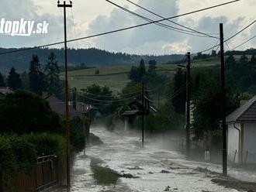
<svg viewBox="0 0 256 192"><path fill-rule="evenodd" d="M18 135L58 132L61 122L47 101L30 92L16 91L0 103L0 131Z"/></svg>

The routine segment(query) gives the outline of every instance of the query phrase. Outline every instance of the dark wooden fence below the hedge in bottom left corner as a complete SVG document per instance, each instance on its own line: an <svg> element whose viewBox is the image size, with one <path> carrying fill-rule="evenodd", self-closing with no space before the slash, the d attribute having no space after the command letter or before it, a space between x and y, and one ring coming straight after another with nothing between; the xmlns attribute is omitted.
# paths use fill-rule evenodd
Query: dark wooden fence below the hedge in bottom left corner
<svg viewBox="0 0 256 192"><path fill-rule="evenodd" d="M36 165L29 173L7 173L0 171L0 191L37 192L58 184L58 158L57 156L42 156L37 159ZM9 183L3 182L3 177L8 175ZM2 179L2 180L1 180ZM1 182L2 181L2 182ZM1 188L2 187L2 188Z"/></svg>

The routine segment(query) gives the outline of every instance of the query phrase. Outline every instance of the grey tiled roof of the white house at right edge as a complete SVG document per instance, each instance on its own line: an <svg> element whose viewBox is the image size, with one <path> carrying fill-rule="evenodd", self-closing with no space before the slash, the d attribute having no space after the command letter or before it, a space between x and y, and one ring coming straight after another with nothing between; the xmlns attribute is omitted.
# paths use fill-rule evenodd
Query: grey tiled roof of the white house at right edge
<svg viewBox="0 0 256 192"><path fill-rule="evenodd" d="M256 122L256 96L237 108L226 118L230 122Z"/></svg>

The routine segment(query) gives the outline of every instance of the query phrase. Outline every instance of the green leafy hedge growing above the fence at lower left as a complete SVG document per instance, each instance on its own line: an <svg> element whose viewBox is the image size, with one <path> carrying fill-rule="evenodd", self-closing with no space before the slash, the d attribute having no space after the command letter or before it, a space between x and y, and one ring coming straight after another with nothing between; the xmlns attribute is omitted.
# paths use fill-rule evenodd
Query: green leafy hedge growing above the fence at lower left
<svg viewBox="0 0 256 192"><path fill-rule="evenodd" d="M0 164L5 170L26 172L42 155L64 156L65 142L61 135L0 135Z"/></svg>

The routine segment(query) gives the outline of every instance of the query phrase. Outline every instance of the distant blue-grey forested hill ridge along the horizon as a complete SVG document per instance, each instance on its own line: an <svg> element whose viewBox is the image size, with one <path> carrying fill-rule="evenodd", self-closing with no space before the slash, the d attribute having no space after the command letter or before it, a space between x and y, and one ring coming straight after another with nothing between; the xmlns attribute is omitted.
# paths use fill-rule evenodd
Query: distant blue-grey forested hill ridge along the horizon
<svg viewBox="0 0 256 192"><path fill-rule="evenodd" d="M0 48L0 53L12 50L17 49ZM29 62L33 54L37 54L40 58L40 63L45 64L51 51L54 51L57 60L59 60L60 65L62 65L64 63L63 49L35 49L0 55L0 71L6 73L9 71L10 67L15 67L19 72L28 70ZM68 62L70 66L80 65L81 63L85 63L88 67L130 65L138 64L142 58L146 62L148 60L156 60L157 63L167 63L170 61L181 60L183 57L183 55L177 54L163 56L130 55L127 53L111 53L106 50L98 50L95 48L68 50Z"/></svg>

